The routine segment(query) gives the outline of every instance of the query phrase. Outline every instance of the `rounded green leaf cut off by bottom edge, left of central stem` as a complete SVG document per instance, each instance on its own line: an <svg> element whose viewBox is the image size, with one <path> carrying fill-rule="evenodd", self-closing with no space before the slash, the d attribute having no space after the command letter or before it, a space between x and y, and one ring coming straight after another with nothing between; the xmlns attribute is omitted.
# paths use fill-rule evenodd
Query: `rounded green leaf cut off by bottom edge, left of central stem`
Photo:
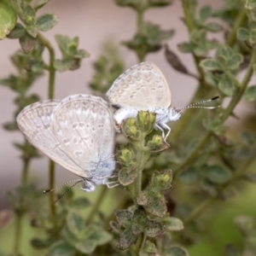
<svg viewBox="0 0 256 256"><path fill-rule="evenodd" d="M50 256L74 256L76 250L67 241L56 241L49 247Z"/></svg>

